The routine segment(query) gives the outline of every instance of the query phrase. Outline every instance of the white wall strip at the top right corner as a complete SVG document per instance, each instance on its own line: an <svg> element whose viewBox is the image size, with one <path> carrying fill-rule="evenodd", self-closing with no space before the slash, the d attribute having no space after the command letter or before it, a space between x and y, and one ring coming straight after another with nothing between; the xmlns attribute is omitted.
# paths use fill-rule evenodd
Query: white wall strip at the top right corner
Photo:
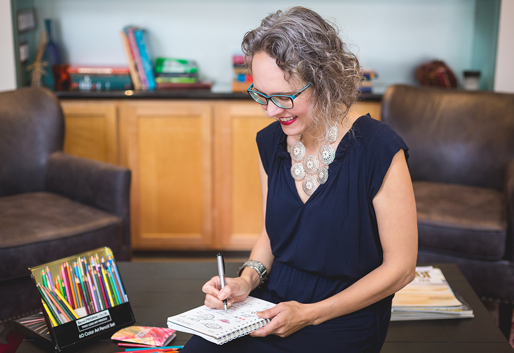
<svg viewBox="0 0 514 353"><path fill-rule="evenodd" d="M514 0L502 0L494 90L514 93Z"/></svg>

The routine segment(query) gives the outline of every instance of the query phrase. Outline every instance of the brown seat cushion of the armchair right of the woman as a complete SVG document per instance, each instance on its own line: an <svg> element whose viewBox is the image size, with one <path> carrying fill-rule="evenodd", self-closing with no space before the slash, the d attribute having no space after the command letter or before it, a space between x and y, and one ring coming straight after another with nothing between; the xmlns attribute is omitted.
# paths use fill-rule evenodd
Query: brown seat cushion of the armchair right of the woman
<svg viewBox="0 0 514 353"><path fill-rule="evenodd" d="M496 260L505 255L507 201L490 188L414 181L420 249Z"/></svg>

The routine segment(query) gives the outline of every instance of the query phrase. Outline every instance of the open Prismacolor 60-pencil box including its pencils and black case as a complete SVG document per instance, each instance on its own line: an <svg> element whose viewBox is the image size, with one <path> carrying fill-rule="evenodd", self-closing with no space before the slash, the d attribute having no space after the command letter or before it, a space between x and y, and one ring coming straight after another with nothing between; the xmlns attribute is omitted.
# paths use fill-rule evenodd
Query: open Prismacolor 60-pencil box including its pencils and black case
<svg viewBox="0 0 514 353"><path fill-rule="evenodd" d="M38 314L16 322L51 340L59 351L135 322L113 252L107 247L29 270L41 296L46 327Z"/></svg>

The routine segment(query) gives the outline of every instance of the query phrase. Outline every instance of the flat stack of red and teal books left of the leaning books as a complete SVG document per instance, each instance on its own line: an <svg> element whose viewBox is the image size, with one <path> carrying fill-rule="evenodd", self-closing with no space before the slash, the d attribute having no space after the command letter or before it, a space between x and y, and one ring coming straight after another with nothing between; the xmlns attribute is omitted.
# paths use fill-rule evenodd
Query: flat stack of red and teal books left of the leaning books
<svg viewBox="0 0 514 353"><path fill-rule="evenodd" d="M69 67L70 89L79 91L113 91L132 89L130 71L126 67Z"/></svg>

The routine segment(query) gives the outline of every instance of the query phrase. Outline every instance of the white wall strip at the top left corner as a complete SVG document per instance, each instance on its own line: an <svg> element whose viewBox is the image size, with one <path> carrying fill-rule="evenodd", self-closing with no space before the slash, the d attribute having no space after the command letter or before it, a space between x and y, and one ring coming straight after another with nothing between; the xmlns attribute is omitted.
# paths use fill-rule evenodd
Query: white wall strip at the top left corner
<svg viewBox="0 0 514 353"><path fill-rule="evenodd" d="M0 0L0 91L16 88L11 1Z"/></svg>

